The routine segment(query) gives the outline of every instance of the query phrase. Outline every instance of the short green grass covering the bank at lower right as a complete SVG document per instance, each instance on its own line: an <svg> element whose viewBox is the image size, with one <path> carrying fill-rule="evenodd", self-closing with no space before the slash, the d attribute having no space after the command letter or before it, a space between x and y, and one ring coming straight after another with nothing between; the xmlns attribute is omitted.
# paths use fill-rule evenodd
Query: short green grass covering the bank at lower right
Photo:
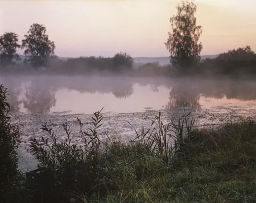
<svg viewBox="0 0 256 203"><path fill-rule="evenodd" d="M255 121L193 130L189 143L184 141L188 149L179 151L182 157L174 158L170 164L161 154L138 151L143 149L138 143L118 145L115 150L119 153L128 151L119 156L113 154L110 166L121 171L113 171L112 179L118 180L116 187L100 200L256 202L255 133Z"/></svg>

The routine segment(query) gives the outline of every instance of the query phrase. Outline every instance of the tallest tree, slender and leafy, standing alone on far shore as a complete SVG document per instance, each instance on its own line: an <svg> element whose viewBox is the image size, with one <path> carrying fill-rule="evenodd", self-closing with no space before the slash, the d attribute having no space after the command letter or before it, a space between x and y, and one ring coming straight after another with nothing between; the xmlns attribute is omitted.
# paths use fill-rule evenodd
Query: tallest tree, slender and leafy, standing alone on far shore
<svg viewBox="0 0 256 203"><path fill-rule="evenodd" d="M202 29L196 25L196 9L193 1L182 1L177 6L177 14L170 18L171 32L165 45L171 54L171 64L183 70L200 61L203 48L198 43Z"/></svg>

